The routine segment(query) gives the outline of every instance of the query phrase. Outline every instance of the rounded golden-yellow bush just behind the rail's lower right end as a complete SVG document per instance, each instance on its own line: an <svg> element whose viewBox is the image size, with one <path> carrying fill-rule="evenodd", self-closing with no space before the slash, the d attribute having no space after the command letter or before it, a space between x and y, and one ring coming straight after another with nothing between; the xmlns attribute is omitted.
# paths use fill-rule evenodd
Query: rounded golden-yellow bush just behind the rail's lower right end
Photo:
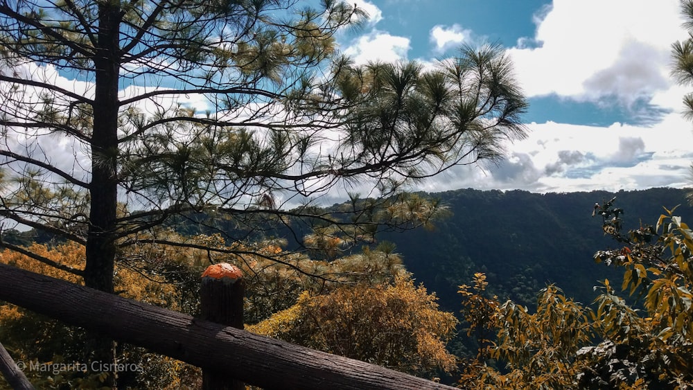
<svg viewBox="0 0 693 390"><path fill-rule="evenodd" d="M303 292L295 305L247 329L310 348L426 373L452 371L445 349L457 320L441 312L434 294L410 278L392 284L342 286L328 294Z"/></svg>

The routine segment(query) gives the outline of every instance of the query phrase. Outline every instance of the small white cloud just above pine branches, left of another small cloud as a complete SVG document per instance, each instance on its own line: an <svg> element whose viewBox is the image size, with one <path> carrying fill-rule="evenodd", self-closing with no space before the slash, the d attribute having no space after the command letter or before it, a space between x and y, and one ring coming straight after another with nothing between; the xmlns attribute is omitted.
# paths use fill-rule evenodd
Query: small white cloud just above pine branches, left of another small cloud
<svg viewBox="0 0 693 390"><path fill-rule="evenodd" d="M409 38L373 30L351 42L344 54L349 55L356 64L369 61L396 62L406 60L410 48Z"/></svg>

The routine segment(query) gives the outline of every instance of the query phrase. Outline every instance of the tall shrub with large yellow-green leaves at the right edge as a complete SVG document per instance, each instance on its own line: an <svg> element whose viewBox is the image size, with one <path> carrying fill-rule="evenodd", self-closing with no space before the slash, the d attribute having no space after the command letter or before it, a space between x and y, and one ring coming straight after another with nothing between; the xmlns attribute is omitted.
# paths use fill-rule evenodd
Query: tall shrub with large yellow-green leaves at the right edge
<svg viewBox="0 0 693 390"><path fill-rule="evenodd" d="M605 320L604 336L627 352L638 378L685 388L693 386L689 363L693 359L693 234L674 215L676 207L664 210L655 226L643 225L627 233L615 229L612 234L624 244L622 249L595 255L624 268L622 290L639 291L644 315L617 299L608 281L597 300L598 314Z"/></svg>

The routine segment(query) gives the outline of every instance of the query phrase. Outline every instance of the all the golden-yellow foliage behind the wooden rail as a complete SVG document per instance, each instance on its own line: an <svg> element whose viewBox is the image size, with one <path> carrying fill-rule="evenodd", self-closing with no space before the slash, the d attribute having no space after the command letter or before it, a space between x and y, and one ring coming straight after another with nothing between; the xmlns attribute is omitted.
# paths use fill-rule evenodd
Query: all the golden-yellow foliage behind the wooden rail
<svg viewBox="0 0 693 390"><path fill-rule="evenodd" d="M146 235L139 238L141 242L132 240L132 245L119 253L114 281L115 290L121 296L189 311L191 290L195 289L202 269L224 261L243 269L247 282L247 318L255 322L264 319L247 326L248 330L411 373L456 368L455 357L445 349L455 331L455 317L438 309L434 294L414 285L401 258L391 251L366 248L362 254L326 261L312 260L306 254L285 253L279 241L254 246L225 245L220 236L183 238L173 232L163 235L163 240L193 246L177 247L151 242ZM329 237L324 243L340 247L343 244L340 240ZM198 245L218 250L198 249L195 247ZM33 245L29 250L74 269L83 269L85 265L84 247L73 243L54 248ZM74 274L15 252L1 252L0 261L82 283ZM171 270L188 274L187 279L178 281L182 285L171 283ZM184 294L188 297L184 298ZM197 296L192 299L193 304L197 302ZM0 329L12 323L14 328L3 330L19 332L24 323L35 321L34 316L12 305L0 305ZM42 321L51 324L48 319ZM43 324L34 328L60 326ZM62 338L64 333L72 332L67 327L61 329ZM55 344L50 341L55 339L53 333L55 329L42 335L27 335L26 340L16 339L15 348L21 350L21 356L33 358L37 352L33 351L31 340ZM43 360L52 358L42 356ZM143 362L147 375L167 378L173 387L182 386L182 375L189 369L179 362L134 349L123 348L120 358Z"/></svg>

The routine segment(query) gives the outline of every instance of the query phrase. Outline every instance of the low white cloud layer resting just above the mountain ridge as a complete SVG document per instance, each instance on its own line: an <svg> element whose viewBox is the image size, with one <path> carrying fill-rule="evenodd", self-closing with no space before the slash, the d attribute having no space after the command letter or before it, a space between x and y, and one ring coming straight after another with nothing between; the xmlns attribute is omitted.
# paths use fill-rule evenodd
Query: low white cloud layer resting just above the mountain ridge
<svg viewBox="0 0 693 390"><path fill-rule="evenodd" d="M532 123L527 139L508 145L499 166L459 166L417 187L570 192L690 186L692 125L677 113L652 127Z"/></svg>

